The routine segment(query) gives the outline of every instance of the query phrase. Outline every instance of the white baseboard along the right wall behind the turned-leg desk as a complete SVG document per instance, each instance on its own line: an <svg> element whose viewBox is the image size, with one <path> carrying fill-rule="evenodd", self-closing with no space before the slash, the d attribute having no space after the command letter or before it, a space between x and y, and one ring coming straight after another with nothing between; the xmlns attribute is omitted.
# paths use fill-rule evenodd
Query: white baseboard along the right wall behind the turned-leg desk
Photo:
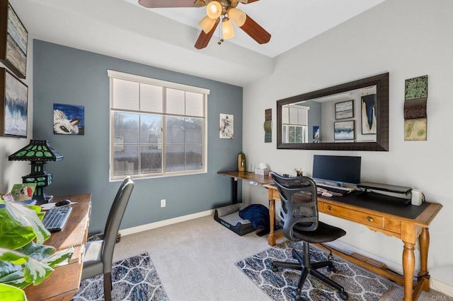
<svg viewBox="0 0 453 301"><path fill-rule="evenodd" d="M362 254L364 256L367 256L372 259L376 259L378 261L381 261L382 263L386 264L387 268L389 268L391 271L394 271L400 275L403 275L403 266L400 264L396 264L393 261L389 261L386 259L383 259L379 256L376 256L375 254L370 254L366 251L363 251L361 249L357 249L357 247L353 247L350 244L347 244L345 242L340 242L339 240L334 240L333 242L328 242L325 243L328 246L331 246L335 249L338 249L339 251L345 253L345 254L351 254L352 252L357 252L359 254ZM416 272L415 272L416 276ZM443 293L448 296L453 296L453 286L448 285L446 283L442 283L441 281L437 281L436 279L430 278L430 287L433 290L437 290L440 293Z"/></svg>

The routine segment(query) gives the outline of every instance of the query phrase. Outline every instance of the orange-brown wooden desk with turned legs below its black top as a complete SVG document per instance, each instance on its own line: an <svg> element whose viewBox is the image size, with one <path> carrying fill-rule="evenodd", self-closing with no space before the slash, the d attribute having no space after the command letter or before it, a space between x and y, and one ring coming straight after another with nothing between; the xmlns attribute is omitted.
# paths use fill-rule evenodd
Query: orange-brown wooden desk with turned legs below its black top
<svg viewBox="0 0 453 301"><path fill-rule="evenodd" d="M268 244L275 245L277 238L282 237L283 233L274 232L275 201L280 201L277 187L273 184L265 184L268 189L269 214L270 214L270 234ZM442 208L439 203L429 203L428 206L416 218L403 218L381 211L375 211L360 206L352 206L348 203L342 203L333 199L318 198L318 210L330 216L336 216L345 220L350 220L360 225L365 225L373 231L382 232L385 235L394 236L403 241L403 276L398 275L390 270L382 270L371 266L363 261L355 259L348 254L343 254L333 250L338 256L348 259L349 261L363 266L374 273L378 273L386 278L404 285L404 300L417 300L421 289L430 290L430 275L428 272L428 248L430 245L430 235L428 225L435 218ZM415 270L415 242L419 237L420 242L420 271L418 272L418 281L413 283L413 273Z"/></svg>

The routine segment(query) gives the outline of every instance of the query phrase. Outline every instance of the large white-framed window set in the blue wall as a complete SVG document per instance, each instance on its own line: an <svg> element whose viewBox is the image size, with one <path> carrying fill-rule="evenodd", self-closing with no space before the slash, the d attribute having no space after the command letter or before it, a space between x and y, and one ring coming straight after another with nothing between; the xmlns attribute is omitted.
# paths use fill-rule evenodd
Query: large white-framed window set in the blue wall
<svg viewBox="0 0 453 301"><path fill-rule="evenodd" d="M108 70L110 179L206 172L210 90Z"/></svg>

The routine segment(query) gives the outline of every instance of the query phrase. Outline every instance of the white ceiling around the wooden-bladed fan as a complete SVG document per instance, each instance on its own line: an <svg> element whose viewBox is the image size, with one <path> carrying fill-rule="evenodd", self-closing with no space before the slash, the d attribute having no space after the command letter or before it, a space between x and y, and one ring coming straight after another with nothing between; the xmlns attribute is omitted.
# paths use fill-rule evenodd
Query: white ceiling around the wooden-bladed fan
<svg viewBox="0 0 453 301"><path fill-rule="evenodd" d="M170 0L168 0L170 1ZM270 75L273 58L384 0L260 0L239 4L271 35L193 45L204 8L144 8L137 0L10 0L30 37L246 86Z"/></svg>

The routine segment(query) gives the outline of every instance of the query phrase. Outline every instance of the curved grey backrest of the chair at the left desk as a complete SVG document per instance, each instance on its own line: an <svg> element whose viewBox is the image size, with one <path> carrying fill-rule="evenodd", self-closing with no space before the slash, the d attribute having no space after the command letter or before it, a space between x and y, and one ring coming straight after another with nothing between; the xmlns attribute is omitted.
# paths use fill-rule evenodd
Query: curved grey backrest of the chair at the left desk
<svg viewBox="0 0 453 301"><path fill-rule="evenodd" d="M115 199L113 200L110 212L108 213L107 223L104 229L104 242L102 251L102 261L104 271L110 271L112 268L113 249L115 248L115 241L117 238L118 230L122 217L125 214L127 203L129 202L130 195L134 189L134 182L130 177L126 177L117 191Z"/></svg>

